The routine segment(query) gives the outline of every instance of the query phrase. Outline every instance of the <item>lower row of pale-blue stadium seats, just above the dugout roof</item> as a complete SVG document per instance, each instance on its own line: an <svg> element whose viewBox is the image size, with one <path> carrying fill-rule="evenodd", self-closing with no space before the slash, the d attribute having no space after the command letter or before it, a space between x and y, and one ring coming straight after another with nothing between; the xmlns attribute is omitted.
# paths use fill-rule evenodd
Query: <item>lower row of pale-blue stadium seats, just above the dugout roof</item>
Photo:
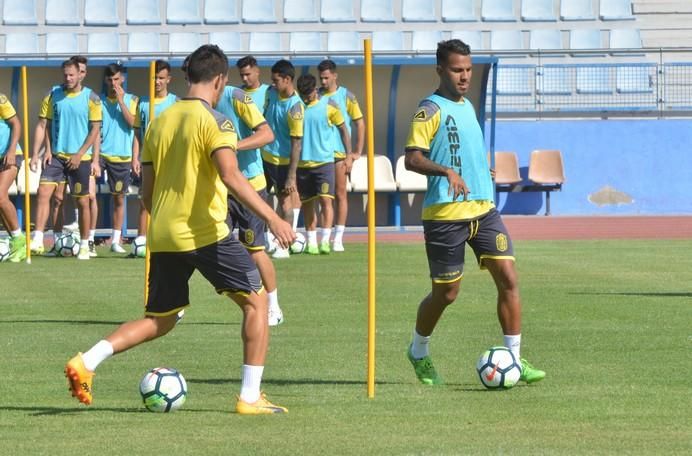
<svg viewBox="0 0 692 456"><path fill-rule="evenodd" d="M560 30L530 31L529 47L525 47L524 32L521 30L493 30L490 34L490 46L483 41L483 33L473 30L441 31L374 31L372 32L373 50L375 51L431 51L437 43L446 38L459 38L477 50L580 50L601 49L602 32L597 29L580 29L569 32L569 47L565 48L563 32ZM410 42L408 38L410 34ZM203 43L218 44L228 52L317 52L317 51L356 51L362 48L362 37L358 32L250 32L247 43L243 43L240 32L96 32L81 34L68 32L49 32L43 35L36 33L6 33L6 54L69 54L69 53L120 53L120 52L189 52ZM284 45L283 36L288 38ZM368 34L370 35L370 34ZM126 48L123 46L126 39ZM45 44L43 44L45 42ZM638 29L613 29L609 33L610 49L640 49L641 37Z"/></svg>

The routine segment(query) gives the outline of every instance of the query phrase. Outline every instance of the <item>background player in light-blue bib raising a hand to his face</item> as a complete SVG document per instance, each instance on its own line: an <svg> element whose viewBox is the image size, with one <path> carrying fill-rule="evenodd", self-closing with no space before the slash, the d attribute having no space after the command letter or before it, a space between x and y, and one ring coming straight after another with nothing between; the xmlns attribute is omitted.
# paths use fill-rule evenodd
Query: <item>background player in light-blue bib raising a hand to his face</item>
<svg viewBox="0 0 692 456"><path fill-rule="evenodd" d="M108 92L101 95L101 169L108 176L108 185L113 195L113 233L111 251L125 253L120 245L125 195L130 186L131 172L139 164L138 144L134 142L137 97L125 93L125 69L119 63L111 63L104 70L104 81Z"/></svg>

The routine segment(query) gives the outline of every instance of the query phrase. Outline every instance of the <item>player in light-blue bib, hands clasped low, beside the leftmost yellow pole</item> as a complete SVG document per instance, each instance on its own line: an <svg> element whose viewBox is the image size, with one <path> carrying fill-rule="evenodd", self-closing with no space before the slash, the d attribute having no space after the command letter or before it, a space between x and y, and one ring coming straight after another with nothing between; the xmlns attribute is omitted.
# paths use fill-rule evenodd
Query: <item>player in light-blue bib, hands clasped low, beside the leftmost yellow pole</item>
<svg viewBox="0 0 692 456"><path fill-rule="evenodd" d="M101 100L91 89L82 87L76 61L66 60L61 68L64 84L44 98L41 108L41 112L45 112L49 134L45 138L44 166L37 196L36 231L31 250L37 254L44 252L43 230L48 221L50 199L58 183L68 180L79 210L81 247L77 258L86 260L90 257L89 180L92 175L101 174L98 162ZM40 160L38 155L32 156L32 170L39 169Z"/></svg>

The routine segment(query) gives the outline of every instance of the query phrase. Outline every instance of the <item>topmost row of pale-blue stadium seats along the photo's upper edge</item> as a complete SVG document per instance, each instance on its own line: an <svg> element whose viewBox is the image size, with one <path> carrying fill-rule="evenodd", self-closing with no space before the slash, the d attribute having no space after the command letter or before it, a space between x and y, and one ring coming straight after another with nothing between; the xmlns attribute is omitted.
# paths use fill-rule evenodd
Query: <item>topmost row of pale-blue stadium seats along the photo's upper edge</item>
<svg viewBox="0 0 692 456"><path fill-rule="evenodd" d="M4 0L4 25L37 25L37 0ZM118 26L117 0L46 0L45 24ZM621 21L634 19L631 0L600 0L598 16L592 0L167 0L162 16L159 0L128 0L125 23L271 24L278 22L507 22L507 21ZM401 15L395 16L394 5ZM83 9L82 9L83 5ZM480 6L480 8L478 8ZM480 13L480 14L479 14Z"/></svg>

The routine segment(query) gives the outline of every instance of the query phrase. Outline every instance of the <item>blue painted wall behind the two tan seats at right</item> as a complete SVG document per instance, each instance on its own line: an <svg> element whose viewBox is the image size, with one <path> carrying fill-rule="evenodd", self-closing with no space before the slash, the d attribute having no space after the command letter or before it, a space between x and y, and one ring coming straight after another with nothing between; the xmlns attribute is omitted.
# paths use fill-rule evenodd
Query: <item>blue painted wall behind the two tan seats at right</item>
<svg viewBox="0 0 692 456"><path fill-rule="evenodd" d="M692 120L498 121L495 144L517 153L524 179L533 149L562 151L567 182L552 193L553 215L692 214ZM633 201L589 201L606 187ZM543 214L545 194L501 193L498 207Z"/></svg>

